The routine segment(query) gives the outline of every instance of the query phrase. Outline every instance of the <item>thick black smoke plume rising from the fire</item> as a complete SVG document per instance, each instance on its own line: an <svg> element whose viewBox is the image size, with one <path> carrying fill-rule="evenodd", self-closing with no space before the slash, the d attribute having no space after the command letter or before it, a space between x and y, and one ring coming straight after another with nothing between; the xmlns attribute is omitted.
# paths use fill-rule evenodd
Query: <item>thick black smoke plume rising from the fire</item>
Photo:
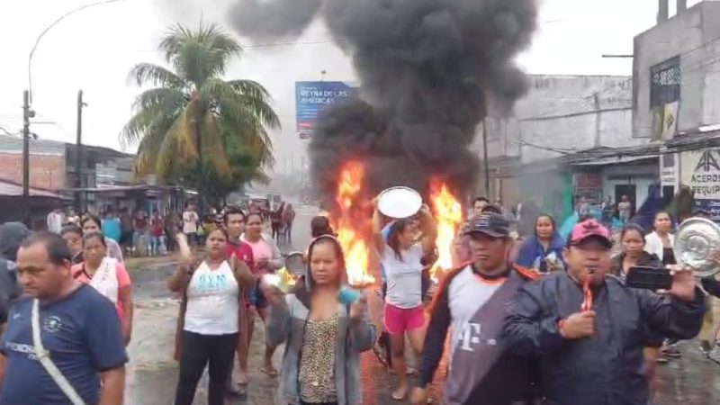
<svg viewBox="0 0 720 405"><path fill-rule="evenodd" d="M513 58L535 31L536 0L316 3L239 1L235 15L260 25L283 8L265 22L286 20L280 26L239 30L263 38L302 32L306 17L318 12L353 58L362 98L324 112L310 144L311 173L326 200L353 158L367 163L367 194L392 185L427 191L435 177L469 191L480 165L468 147L486 97L509 107L527 90Z"/></svg>

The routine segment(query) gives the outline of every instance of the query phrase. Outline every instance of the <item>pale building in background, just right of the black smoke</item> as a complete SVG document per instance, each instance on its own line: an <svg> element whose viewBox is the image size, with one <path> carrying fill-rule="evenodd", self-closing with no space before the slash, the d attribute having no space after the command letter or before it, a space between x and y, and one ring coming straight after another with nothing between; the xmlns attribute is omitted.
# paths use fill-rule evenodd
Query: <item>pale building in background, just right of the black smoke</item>
<svg viewBox="0 0 720 405"><path fill-rule="evenodd" d="M606 195L615 199L615 185L606 187L604 178L612 176L611 183L633 183L631 172L623 175L616 169L603 175L600 164L617 165L617 161L602 159L597 160L597 166L590 162L573 171L567 158L592 149L601 150L605 156L608 148L647 143L648 139L633 136L632 89L630 76L533 75L527 95L509 116L502 116L491 103L484 130L492 198L510 204L530 200L542 211L554 212L561 218L572 212L578 195L592 202ZM482 136L477 137L473 148L482 157ZM657 171L653 162L643 163ZM645 175L647 172L644 170ZM640 192L632 199L643 201L647 184L637 188Z"/></svg>

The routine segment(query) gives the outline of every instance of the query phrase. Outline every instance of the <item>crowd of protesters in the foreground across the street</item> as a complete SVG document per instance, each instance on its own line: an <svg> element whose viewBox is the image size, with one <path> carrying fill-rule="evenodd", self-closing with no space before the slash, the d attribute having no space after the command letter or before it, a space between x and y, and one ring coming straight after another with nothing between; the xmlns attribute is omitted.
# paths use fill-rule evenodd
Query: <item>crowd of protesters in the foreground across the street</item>
<svg viewBox="0 0 720 405"><path fill-rule="evenodd" d="M397 378L392 398L416 405L428 401L444 356L446 405L648 405L657 365L680 355L678 341L702 331L701 349L720 352L708 315L720 283L706 278L700 289L676 265L666 212L648 235L628 224L616 236L586 217L567 238L541 214L520 238L507 212L479 198L457 235L456 266L426 307L436 220L427 206L409 219L376 208L369 253L380 263L384 307L375 317L367 289L348 285L328 218L311 221L305 272L283 290L266 277L284 267L273 214L228 207L201 238L193 212L182 214L181 264L167 281L181 302L176 405L193 403L206 368L209 405L247 389L256 317L266 328L261 370L279 376L293 405L361 405L360 355L371 349ZM60 224L37 233L0 227L0 405L122 403L133 308L121 245L96 217ZM720 253L714 259L720 266ZM628 287L635 266L671 266L671 288Z"/></svg>

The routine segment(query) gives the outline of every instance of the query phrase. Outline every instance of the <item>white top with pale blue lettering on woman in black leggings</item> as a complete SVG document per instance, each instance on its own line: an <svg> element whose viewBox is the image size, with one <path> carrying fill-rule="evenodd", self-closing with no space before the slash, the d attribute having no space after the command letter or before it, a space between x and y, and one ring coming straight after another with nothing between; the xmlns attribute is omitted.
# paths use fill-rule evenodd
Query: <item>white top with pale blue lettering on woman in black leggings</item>
<svg viewBox="0 0 720 405"><path fill-rule="evenodd" d="M202 262L187 287L184 330L201 335L238 333L239 293L227 261L214 271Z"/></svg>

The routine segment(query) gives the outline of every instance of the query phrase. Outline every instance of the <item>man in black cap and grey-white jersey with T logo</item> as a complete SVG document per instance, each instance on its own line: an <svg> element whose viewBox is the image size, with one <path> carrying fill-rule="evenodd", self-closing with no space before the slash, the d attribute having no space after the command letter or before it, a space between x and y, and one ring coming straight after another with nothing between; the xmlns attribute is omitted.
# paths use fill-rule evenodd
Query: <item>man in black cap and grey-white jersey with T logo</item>
<svg viewBox="0 0 720 405"><path fill-rule="evenodd" d="M424 404L452 327L449 370L443 388L446 405L524 405L533 403L532 362L505 350L506 307L518 288L536 275L509 265L509 222L482 213L465 233L473 261L446 275L433 304L422 351L420 383L413 404Z"/></svg>

